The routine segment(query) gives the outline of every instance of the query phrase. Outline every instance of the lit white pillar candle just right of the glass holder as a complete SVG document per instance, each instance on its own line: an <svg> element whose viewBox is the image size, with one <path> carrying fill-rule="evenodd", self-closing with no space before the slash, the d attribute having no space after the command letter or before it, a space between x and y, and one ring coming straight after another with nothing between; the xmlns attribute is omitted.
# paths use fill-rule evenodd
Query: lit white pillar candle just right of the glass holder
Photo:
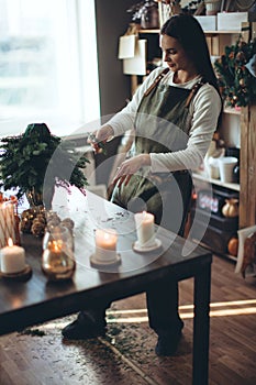
<svg viewBox="0 0 256 385"><path fill-rule="evenodd" d="M112 262L116 260L118 234L112 229L96 230L96 260L99 262Z"/></svg>

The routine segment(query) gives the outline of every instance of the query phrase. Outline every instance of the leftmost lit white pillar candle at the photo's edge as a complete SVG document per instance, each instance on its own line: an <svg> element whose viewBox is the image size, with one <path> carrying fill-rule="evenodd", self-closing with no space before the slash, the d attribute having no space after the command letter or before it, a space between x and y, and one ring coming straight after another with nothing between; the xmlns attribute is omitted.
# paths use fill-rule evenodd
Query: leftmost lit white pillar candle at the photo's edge
<svg viewBox="0 0 256 385"><path fill-rule="evenodd" d="M25 268L25 250L13 245L12 239L8 241L8 246L0 250L1 272L4 274L20 273Z"/></svg>

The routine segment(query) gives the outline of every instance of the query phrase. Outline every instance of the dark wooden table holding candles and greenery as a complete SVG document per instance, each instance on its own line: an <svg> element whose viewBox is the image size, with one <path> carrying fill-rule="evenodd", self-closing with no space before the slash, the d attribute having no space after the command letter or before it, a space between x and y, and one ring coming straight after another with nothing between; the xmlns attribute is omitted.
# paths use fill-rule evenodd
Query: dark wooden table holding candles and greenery
<svg viewBox="0 0 256 385"><path fill-rule="evenodd" d="M76 221L74 279L49 283L41 271L42 241L23 235L26 261L33 268L27 282L0 279L0 334L67 316L94 304L103 296L120 299L145 292L157 279L175 276L194 278L193 384L208 383L209 307L212 255L164 228L156 227L162 248L149 253L133 250L136 231L133 215L93 194L85 197L74 189L58 188L54 209ZM114 228L119 232L121 264L96 268L90 265L94 250L93 229Z"/></svg>

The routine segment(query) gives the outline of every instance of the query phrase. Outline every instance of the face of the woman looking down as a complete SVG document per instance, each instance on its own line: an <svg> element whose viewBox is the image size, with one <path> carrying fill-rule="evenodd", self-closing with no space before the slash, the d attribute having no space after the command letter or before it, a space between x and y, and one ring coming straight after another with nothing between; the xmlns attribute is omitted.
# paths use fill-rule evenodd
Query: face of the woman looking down
<svg viewBox="0 0 256 385"><path fill-rule="evenodd" d="M172 72L187 70L191 66L191 61L177 38L162 35L160 47L164 61Z"/></svg>

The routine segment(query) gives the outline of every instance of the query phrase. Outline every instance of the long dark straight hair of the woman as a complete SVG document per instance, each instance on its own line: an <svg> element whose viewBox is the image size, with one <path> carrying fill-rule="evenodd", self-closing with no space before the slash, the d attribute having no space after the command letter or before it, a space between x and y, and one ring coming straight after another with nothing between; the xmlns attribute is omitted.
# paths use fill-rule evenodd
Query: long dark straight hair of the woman
<svg viewBox="0 0 256 385"><path fill-rule="evenodd" d="M176 14L164 23L160 34L177 38L203 80L220 94L207 40L197 19L190 14Z"/></svg>

